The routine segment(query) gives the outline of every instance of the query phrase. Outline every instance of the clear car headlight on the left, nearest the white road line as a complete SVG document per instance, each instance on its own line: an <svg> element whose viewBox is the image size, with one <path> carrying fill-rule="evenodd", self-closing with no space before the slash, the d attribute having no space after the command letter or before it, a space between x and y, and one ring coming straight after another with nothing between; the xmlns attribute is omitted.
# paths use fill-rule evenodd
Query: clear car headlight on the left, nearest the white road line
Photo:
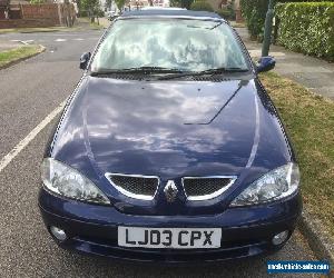
<svg viewBox="0 0 334 278"><path fill-rule="evenodd" d="M43 159L41 178L48 190L60 196L95 203L110 203L104 192L82 173L52 158Z"/></svg>

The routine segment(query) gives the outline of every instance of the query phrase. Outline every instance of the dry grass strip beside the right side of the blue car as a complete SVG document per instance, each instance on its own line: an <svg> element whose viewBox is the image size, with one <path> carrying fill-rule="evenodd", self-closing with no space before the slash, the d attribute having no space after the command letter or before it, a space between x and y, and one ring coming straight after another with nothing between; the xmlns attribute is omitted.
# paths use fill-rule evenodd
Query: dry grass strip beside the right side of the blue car
<svg viewBox="0 0 334 278"><path fill-rule="evenodd" d="M293 141L304 206L334 238L334 101L276 73L261 80Z"/></svg>

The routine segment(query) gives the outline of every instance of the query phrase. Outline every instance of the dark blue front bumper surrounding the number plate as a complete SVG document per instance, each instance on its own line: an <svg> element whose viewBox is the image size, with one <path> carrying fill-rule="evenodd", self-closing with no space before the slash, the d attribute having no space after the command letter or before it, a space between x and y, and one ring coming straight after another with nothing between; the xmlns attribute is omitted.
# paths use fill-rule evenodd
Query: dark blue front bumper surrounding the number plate
<svg viewBox="0 0 334 278"><path fill-rule="evenodd" d="M273 251L282 246L273 246L274 235L295 228L301 215L301 196L284 202L275 202L252 208L227 209L213 216L134 216L125 215L114 207L95 206L62 199L40 191L39 207L49 229L63 229L69 240L57 244L66 249L99 255L114 259L137 262L212 262L252 257ZM210 228L222 227L222 247L218 249L145 249L125 248L117 245L117 227L156 228Z"/></svg>

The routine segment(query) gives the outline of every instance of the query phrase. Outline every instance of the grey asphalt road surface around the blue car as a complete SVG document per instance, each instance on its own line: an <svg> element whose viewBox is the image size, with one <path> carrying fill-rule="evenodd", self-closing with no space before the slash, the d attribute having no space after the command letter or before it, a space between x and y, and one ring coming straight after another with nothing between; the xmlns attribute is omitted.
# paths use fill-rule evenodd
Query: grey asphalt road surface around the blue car
<svg viewBox="0 0 334 278"><path fill-rule="evenodd" d="M0 161L72 91L78 58L100 31L2 34L47 47L36 58L0 70ZM267 277L267 260L313 260L299 232L266 258L218 266L132 266L59 249L45 229L38 206L39 163L55 120L0 170L0 277ZM291 277L283 276L279 277ZM303 276L305 277L305 276Z"/></svg>

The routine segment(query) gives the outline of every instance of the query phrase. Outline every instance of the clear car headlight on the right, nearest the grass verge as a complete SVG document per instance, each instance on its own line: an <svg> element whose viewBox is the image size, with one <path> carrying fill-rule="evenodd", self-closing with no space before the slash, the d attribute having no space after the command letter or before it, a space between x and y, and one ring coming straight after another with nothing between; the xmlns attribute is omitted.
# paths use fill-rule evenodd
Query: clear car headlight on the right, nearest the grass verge
<svg viewBox="0 0 334 278"><path fill-rule="evenodd" d="M298 166L287 163L254 181L234 199L230 206L249 206L278 200L293 195L298 189Z"/></svg>

